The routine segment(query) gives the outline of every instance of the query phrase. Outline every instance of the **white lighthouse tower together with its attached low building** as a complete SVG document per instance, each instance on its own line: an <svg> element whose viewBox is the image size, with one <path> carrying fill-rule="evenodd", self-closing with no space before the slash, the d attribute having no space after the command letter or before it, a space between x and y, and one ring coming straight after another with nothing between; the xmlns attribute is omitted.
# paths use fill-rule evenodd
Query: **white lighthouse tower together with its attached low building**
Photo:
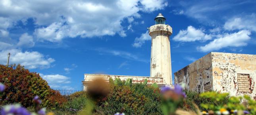
<svg viewBox="0 0 256 115"><path fill-rule="evenodd" d="M155 25L148 28L149 35L152 38L151 42L151 61L150 61L150 77L141 76L125 76L125 75L100 75L100 74L85 74L84 81L82 81L84 90L87 89L88 84L95 78L103 78L108 82L109 78L120 78L126 80L131 78L133 83L143 82L148 80L148 85L157 83L159 86L171 86L171 48L170 36L172 28L165 24L166 18L159 13L154 19Z"/></svg>

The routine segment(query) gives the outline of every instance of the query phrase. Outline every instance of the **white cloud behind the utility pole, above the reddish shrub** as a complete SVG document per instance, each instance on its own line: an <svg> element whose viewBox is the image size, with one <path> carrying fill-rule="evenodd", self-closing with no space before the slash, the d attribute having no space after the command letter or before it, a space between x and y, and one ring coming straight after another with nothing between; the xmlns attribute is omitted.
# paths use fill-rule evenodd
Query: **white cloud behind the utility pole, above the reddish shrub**
<svg viewBox="0 0 256 115"><path fill-rule="evenodd" d="M50 64L55 60L53 58L46 58L43 54L39 52L22 52L19 49L10 49L0 51L0 63L6 64L7 55L11 53L10 64L16 63L24 65L28 69L35 68L49 68Z"/></svg>

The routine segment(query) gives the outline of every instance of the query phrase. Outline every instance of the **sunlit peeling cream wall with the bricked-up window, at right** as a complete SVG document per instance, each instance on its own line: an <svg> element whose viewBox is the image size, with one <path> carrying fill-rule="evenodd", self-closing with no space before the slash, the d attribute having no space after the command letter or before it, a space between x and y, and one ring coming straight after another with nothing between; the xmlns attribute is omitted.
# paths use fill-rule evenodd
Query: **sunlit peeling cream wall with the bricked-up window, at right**
<svg viewBox="0 0 256 115"><path fill-rule="evenodd" d="M256 55L212 52L212 67L214 90L256 96Z"/></svg>

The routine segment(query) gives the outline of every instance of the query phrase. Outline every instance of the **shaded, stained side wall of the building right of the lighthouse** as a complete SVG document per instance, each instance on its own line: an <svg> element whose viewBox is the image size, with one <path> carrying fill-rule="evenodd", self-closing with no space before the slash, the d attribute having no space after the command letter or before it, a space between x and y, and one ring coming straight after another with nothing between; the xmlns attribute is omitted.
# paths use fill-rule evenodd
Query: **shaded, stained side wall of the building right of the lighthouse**
<svg viewBox="0 0 256 115"><path fill-rule="evenodd" d="M196 92L212 90L212 57L211 54L194 61L174 73L175 84L185 84L186 89Z"/></svg>

